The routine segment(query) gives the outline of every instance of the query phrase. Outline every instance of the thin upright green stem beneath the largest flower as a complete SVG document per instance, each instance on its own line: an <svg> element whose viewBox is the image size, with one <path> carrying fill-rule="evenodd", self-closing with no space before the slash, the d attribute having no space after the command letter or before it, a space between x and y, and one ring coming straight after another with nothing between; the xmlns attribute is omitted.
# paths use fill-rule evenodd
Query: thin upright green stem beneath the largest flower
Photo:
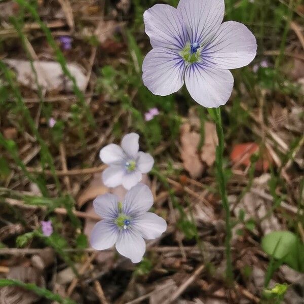
<svg viewBox="0 0 304 304"><path fill-rule="evenodd" d="M210 116L216 124L216 133L218 137L218 146L216 147L216 179L218 183L219 194L223 209L225 211L226 221L226 238L225 238L225 254L226 254L226 280L228 283L233 281L233 267L231 258L231 222L230 222L230 208L226 194L226 179L223 169L223 152L224 152L224 132L221 121L220 108L208 109Z"/></svg>

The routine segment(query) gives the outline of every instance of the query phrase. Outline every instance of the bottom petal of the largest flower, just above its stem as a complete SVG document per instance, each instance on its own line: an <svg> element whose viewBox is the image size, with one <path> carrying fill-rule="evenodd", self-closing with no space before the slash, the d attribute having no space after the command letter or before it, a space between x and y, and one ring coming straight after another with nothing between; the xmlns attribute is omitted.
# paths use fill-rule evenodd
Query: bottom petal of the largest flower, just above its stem
<svg viewBox="0 0 304 304"><path fill-rule="evenodd" d="M191 97L205 107L219 107L231 96L234 79L229 70L216 70L203 64L190 65L185 73Z"/></svg>

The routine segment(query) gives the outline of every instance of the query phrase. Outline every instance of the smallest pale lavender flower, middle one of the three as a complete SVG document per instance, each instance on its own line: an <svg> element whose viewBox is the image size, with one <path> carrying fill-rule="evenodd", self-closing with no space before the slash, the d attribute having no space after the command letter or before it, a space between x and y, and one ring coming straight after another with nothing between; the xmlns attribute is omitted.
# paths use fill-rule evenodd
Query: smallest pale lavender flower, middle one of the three
<svg viewBox="0 0 304 304"><path fill-rule="evenodd" d="M109 144L100 150L100 159L109 165L102 173L103 183L108 187L123 185L130 189L141 181L142 173L148 173L154 159L139 150L139 135L130 133L123 137L121 147Z"/></svg>

